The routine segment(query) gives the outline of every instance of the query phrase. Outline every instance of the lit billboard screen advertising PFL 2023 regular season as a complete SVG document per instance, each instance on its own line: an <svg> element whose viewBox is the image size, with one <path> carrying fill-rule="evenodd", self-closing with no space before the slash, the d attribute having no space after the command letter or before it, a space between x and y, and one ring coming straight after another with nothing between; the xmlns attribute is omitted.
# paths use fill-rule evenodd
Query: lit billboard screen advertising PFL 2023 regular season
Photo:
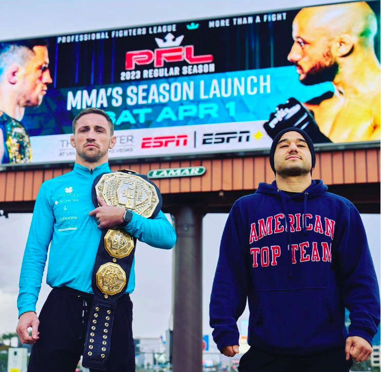
<svg viewBox="0 0 381 372"><path fill-rule="evenodd" d="M74 160L72 119L105 110L110 158L380 139L380 4L341 3L0 43L2 163Z"/></svg>

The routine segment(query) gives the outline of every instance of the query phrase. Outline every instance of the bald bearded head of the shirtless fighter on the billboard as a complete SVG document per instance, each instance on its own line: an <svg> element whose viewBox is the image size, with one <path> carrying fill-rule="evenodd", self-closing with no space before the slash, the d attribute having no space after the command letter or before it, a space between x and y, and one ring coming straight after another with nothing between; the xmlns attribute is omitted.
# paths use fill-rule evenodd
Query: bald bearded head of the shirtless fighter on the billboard
<svg viewBox="0 0 381 372"><path fill-rule="evenodd" d="M294 18L288 60L305 85L333 82L339 66L373 47L376 29L375 15L365 2L303 8Z"/></svg>

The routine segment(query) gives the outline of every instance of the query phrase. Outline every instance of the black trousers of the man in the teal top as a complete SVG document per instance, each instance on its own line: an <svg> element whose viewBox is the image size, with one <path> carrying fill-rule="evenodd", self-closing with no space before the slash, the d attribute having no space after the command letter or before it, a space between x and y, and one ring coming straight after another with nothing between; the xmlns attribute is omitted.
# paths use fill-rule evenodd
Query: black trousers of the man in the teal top
<svg viewBox="0 0 381 372"><path fill-rule="evenodd" d="M41 310L40 339L32 347L28 372L75 371L84 350L92 300L93 295L65 286L52 289ZM106 372L135 372L132 302L128 294L118 300Z"/></svg>

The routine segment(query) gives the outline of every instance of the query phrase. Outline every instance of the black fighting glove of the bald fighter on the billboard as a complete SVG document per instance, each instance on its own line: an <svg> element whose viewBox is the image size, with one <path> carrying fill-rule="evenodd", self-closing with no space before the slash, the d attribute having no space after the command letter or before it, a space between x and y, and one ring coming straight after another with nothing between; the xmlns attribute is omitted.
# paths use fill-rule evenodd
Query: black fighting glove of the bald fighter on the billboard
<svg viewBox="0 0 381 372"><path fill-rule="evenodd" d="M272 139L283 129L290 127L302 129L314 143L332 142L320 132L313 112L295 98L278 105L275 112L270 115L269 121L263 124L264 130Z"/></svg>

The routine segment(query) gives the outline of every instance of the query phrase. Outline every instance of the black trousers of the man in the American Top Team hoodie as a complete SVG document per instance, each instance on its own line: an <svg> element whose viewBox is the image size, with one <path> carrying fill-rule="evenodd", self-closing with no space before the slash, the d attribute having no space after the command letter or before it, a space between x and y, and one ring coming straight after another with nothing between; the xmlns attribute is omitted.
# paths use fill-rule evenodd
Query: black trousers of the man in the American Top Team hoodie
<svg viewBox="0 0 381 372"><path fill-rule="evenodd" d="M352 358L345 359L344 348L312 355L283 355L251 347L241 358L239 372L349 372Z"/></svg>

